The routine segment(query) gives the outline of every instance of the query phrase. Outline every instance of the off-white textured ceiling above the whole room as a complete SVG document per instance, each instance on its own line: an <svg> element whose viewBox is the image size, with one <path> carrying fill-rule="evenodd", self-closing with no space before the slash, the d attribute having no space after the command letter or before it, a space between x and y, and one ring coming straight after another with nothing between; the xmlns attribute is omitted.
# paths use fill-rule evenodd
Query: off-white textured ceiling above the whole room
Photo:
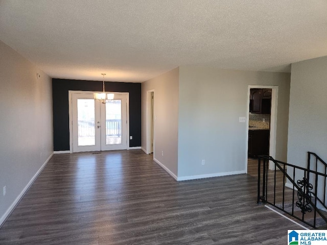
<svg viewBox="0 0 327 245"><path fill-rule="evenodd" d="M327 1L0 0L0 40L52 78L143 82L183 65L289 72L327 55Z"/></svg>

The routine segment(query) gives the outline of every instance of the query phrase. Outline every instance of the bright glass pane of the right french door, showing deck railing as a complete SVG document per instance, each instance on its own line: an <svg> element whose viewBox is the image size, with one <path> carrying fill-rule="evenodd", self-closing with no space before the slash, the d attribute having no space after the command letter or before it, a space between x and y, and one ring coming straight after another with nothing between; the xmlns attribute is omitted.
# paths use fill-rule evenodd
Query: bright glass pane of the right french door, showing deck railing
<svg viewBox="0 0 327 245"><path fill-rule="evenodd" d="M122 101L106 103L106 144L122 143Z"/></svg>

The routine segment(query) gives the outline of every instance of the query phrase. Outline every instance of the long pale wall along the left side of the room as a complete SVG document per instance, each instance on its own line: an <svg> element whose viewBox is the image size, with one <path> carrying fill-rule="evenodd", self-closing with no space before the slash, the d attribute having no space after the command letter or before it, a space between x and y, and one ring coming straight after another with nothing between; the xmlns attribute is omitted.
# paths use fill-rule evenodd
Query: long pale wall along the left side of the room
<svg viewBox="0 0 327 245"><path fill-rule="evenodd" d="M53 154L53 116L51 78L2 41L0 54L1 225Z"/></svg>

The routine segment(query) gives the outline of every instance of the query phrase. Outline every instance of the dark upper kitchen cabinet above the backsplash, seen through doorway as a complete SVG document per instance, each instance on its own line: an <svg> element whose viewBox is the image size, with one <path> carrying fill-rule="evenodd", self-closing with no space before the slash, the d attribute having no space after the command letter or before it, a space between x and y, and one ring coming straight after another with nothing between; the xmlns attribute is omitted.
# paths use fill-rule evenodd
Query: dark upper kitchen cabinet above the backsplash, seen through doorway
<svg viewBox="0 0 327 245"><path fill-rule="evenodd" d="M250 89L250 112L256 114L270 114L271 89L251 88Z"/></svg>

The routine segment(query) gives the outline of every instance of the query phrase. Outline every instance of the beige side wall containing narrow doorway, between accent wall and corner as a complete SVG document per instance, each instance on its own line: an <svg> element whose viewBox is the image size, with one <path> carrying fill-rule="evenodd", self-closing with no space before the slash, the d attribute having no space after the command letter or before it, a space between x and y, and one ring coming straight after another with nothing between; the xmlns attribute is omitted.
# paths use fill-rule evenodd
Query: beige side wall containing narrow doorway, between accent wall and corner
<svg viewBox="0 0 327 245"><path fill-rule="evenodd" d="M147 91L154 90L154 159L175 179L178 148L178 79L179 68L142 83L142 149L147 150ZM164 156L162 156L162 151Z"/></svg>

